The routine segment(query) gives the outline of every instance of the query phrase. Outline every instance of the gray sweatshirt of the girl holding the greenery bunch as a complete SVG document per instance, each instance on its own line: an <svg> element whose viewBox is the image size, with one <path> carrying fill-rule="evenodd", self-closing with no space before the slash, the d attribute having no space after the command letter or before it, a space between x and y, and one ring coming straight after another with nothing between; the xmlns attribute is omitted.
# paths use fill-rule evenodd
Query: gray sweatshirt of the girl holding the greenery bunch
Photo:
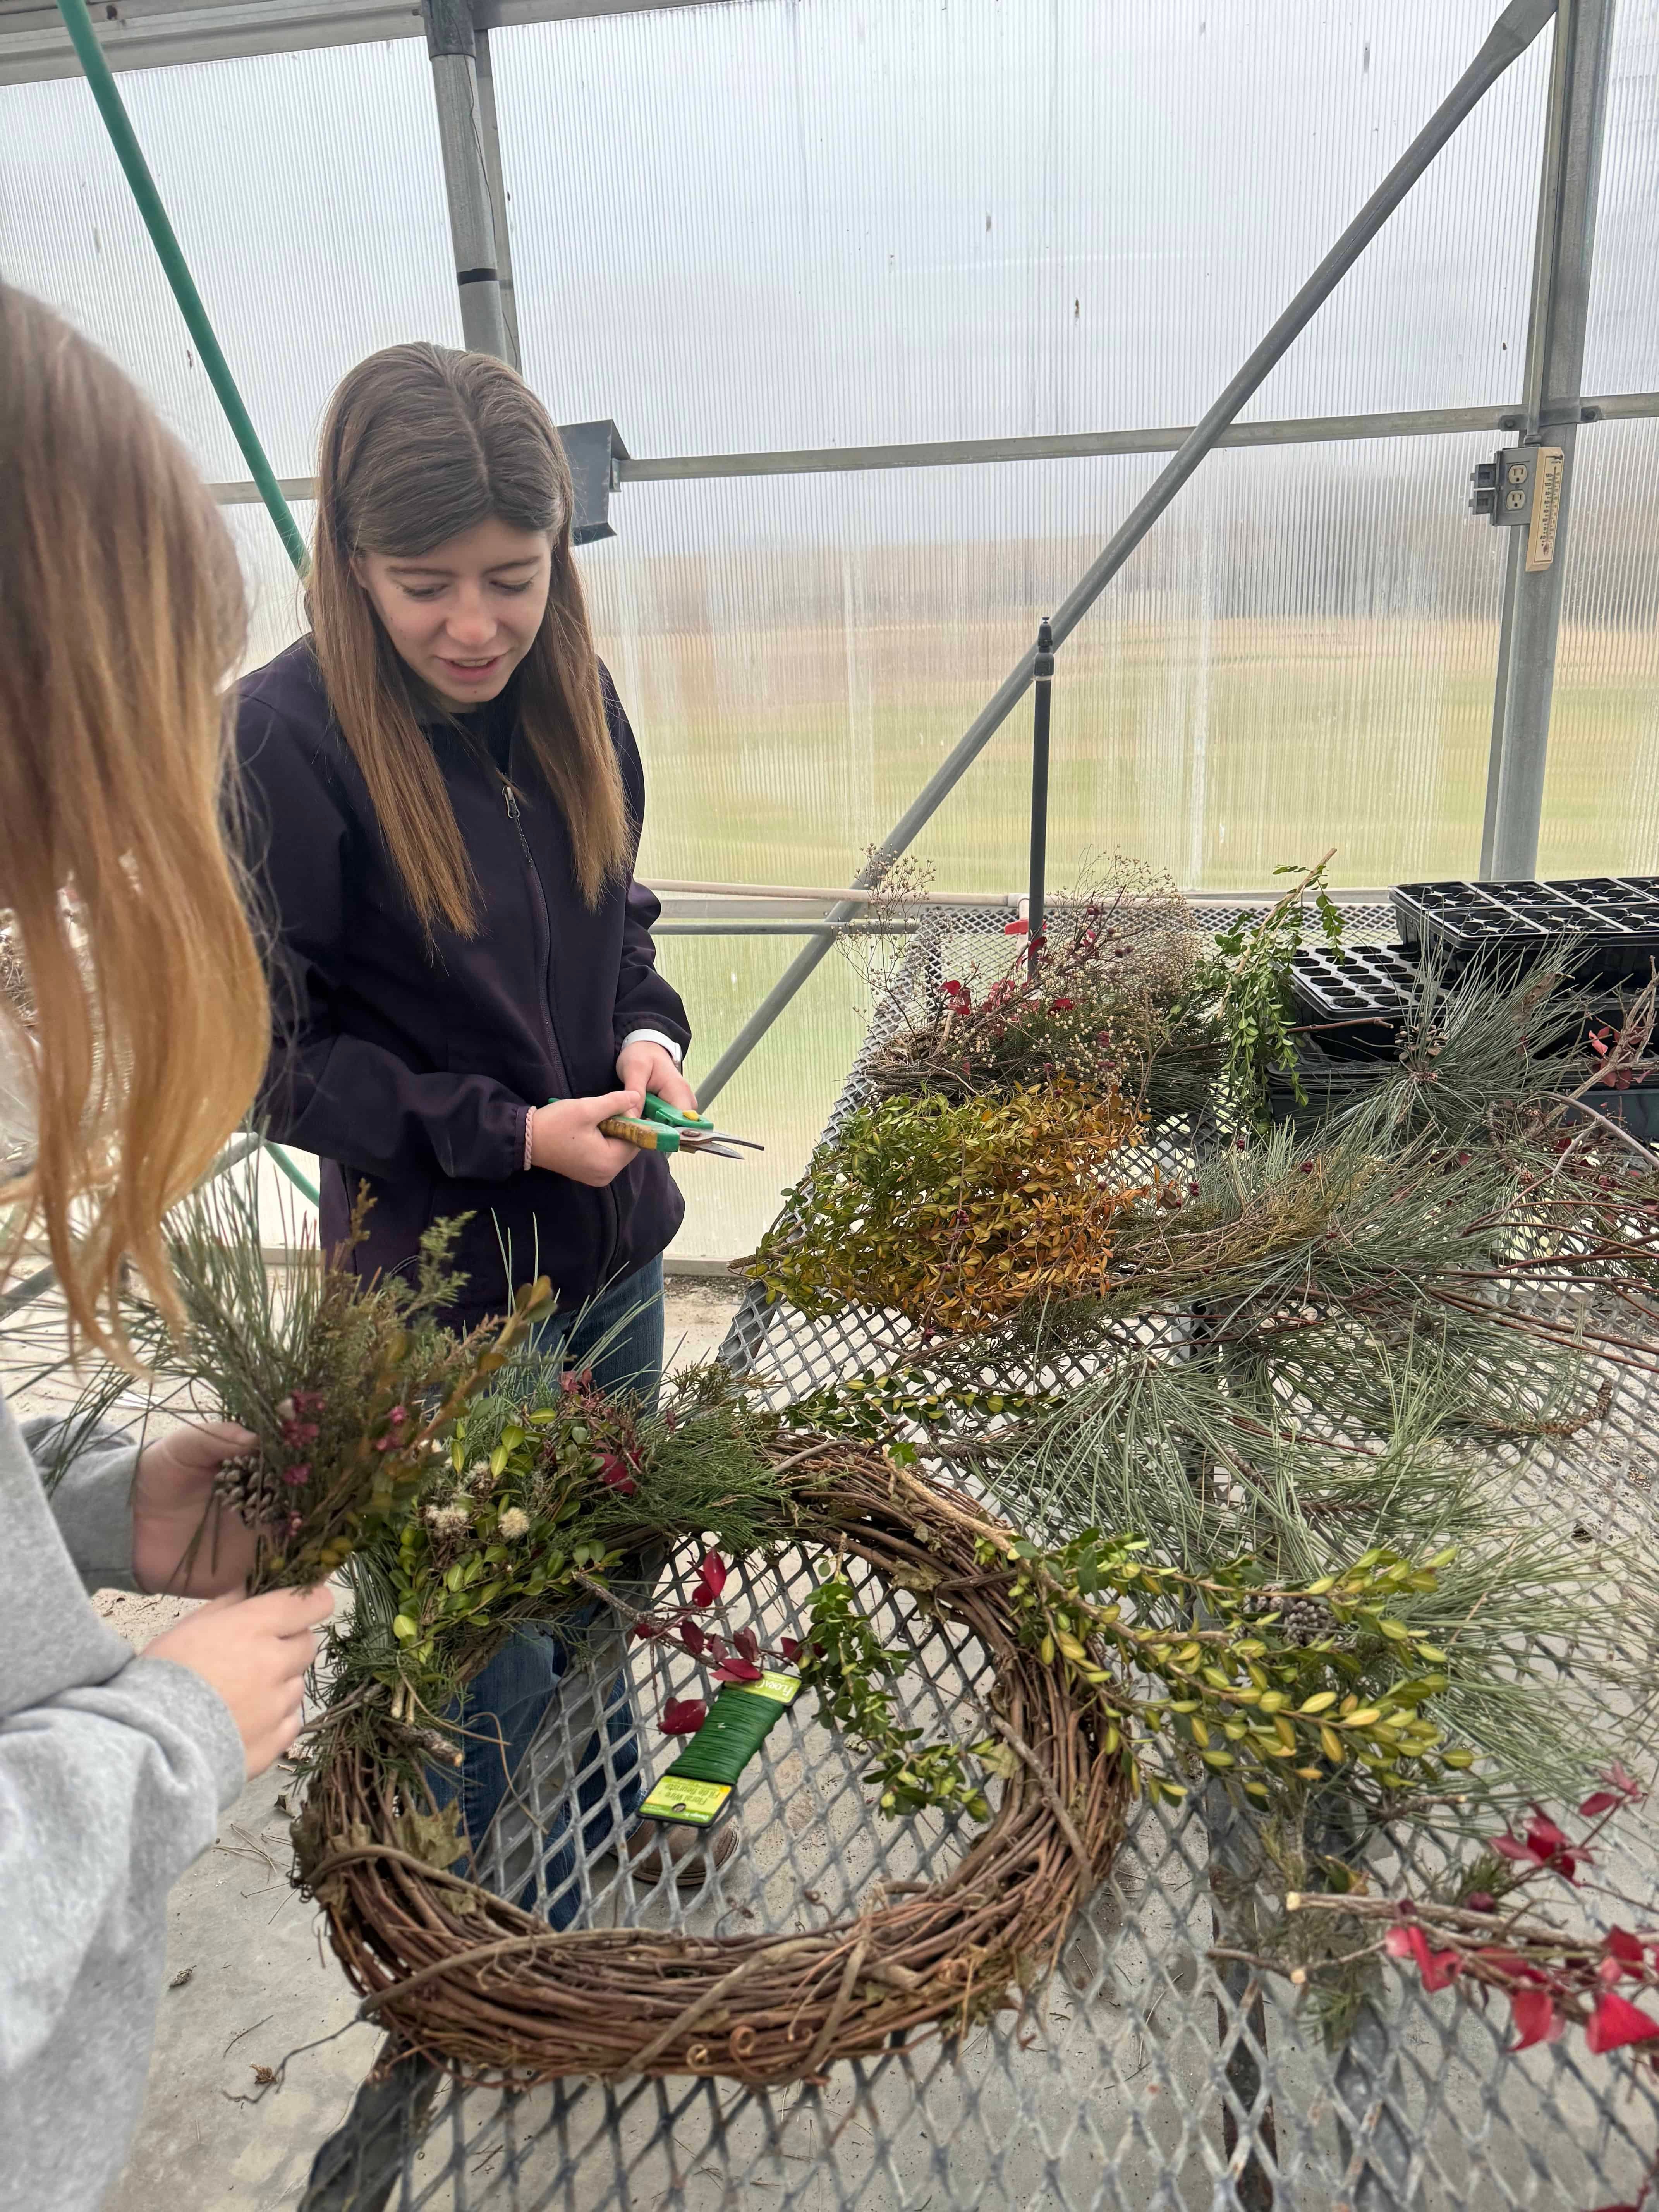
<svg viewBox="0 0 1659 2212"><path fill-rule="evenodd" d="M86 1586L131 1586L133 1449L49 1504L0 1400L0 2208L93 2212L144 2097L166 1893L243 1783L228 1705L135 1659Z"/></svg>

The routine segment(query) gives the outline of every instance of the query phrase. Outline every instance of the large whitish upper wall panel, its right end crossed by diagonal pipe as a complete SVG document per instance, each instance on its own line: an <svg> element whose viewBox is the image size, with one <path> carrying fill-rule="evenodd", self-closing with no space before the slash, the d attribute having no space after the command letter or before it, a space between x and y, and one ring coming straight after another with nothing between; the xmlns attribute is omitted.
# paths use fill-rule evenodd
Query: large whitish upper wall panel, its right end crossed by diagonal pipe
<svg viewBox="0 0 1659 2212"><path fill-rule="evenodd" d="M1192 422L1491 0L752 0L495 33L526 363L635 453ZM1520 387L1548 35L1250 414Z"/></svg>

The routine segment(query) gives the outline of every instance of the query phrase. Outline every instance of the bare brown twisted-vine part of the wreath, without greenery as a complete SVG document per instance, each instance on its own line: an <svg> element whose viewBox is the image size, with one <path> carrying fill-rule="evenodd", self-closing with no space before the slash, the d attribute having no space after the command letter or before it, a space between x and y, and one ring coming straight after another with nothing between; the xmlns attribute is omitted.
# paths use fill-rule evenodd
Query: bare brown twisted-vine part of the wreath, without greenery
<svg viewBox="0 0 1659 2212"><path fill-rule="evenodd" d="M1099 1708L1073 1703L1060 1670L1015 1639L1002 1577L973 1553L978 1506L847 1440L799 1453L787 1484L792 1544L852 1553L920 1590L989 1655L989 1710L1015 1752L991 1827L942 1882L810 1936L555 1933L380 1840L405 1809L396 1785L341 1745L305 1812L327 1840L296 1880L323 1905L365 2015L403 2044L515 2088L564 2075L801 2081L898 2031L960 2035L1020 2008L1053 1969L1124 1838L1124 1752L1106 1752Z"/></svg>

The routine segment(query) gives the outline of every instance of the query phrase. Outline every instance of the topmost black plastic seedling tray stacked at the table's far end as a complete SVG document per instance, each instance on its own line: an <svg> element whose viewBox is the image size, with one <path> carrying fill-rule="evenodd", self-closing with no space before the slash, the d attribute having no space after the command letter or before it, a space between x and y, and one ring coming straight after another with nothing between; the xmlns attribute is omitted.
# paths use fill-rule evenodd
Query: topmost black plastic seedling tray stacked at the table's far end
<svg viewBox="0 0 1659 2212"><path fill-rule="evenodd" d="M1559 938L1577 940L1584 982L1644 978L1659 962L1659 876L1402 883L1391 896L1407 947L1447 973L1473 958L1524 969Z"/></svg>

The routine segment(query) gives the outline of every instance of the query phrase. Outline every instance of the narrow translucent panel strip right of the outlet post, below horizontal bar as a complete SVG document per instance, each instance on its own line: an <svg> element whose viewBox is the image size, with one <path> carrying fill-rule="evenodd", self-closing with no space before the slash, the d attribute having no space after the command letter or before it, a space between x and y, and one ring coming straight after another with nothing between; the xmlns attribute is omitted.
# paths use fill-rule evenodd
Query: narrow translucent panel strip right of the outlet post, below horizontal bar
<svg viewBox="0 0 1659 2212"><path fill-rule="evenodd" d="M1579 431L1537 865L1659 872L1659 422Z"/></svg>

